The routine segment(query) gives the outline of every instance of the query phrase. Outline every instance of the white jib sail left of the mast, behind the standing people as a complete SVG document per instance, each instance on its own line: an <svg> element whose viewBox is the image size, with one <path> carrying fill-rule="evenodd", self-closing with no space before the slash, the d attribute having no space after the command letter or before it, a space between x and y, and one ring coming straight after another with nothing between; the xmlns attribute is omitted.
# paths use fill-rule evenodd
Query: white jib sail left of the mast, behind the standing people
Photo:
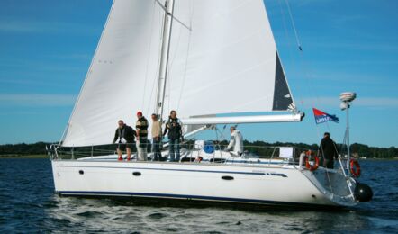
<svg viewBox="0 0 398 234"><path fill-rule="evenodd" d="M62 145L109 144L117 121L153 111L163 10L155 1L115 0Z"/></svg>

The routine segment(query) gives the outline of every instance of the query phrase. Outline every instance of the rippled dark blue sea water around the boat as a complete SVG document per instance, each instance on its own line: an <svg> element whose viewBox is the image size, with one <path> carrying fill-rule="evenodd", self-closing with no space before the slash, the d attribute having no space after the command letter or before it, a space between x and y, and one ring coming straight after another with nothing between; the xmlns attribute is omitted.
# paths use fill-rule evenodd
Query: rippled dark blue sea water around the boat
<svg viewBox="0 0 398 234"><path fill-rule="evenodd" d="M361 161L372 202L348 211L137 205L54 194L47 159L0 159L0 233L398 232L398 161Z"/></svg>

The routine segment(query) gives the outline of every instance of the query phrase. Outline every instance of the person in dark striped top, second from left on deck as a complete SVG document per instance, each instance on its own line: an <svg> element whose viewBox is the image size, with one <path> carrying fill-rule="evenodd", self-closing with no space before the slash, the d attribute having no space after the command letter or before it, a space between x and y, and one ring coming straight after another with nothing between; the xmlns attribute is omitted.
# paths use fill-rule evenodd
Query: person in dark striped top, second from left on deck
<svg viewBox="0 0 398 234"><path fill-rule="evenodd" d="M137 130L137 160L147 160L148 148L148 121L142 115L142 112L137 112L137 122L135 129Z"/></svg>

